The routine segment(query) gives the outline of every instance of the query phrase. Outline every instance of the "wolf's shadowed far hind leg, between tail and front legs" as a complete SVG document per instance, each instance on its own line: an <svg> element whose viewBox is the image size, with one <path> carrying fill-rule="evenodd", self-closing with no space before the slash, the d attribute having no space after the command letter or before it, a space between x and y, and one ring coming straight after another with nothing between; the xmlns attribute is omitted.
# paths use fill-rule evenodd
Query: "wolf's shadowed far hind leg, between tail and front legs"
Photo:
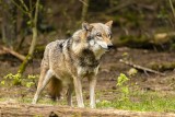
<svg viewBox="0 0 175 117"><path fill-rule="evenodd" d="M67 92L67 102L68 102L69 106L73 106L73 104L72 104L72 92L73 92L73 89L74 89L73 84L72 83L69 84L68 92Z"/></svg>

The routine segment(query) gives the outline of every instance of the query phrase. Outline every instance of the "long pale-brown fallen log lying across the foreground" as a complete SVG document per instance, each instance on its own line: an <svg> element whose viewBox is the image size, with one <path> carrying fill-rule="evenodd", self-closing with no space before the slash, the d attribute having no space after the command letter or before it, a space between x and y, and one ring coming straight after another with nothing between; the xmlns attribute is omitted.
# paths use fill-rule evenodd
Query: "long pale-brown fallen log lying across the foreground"
<svg viewBox="0 0 175 117"><path fill-rule="evenodd" d="M171 113L0 103L0 117L175 117Z"/></svg>

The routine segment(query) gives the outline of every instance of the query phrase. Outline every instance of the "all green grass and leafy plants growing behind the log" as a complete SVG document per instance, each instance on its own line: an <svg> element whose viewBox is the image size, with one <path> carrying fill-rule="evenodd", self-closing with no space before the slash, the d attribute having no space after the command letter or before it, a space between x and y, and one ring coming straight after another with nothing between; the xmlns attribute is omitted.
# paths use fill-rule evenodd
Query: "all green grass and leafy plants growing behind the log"
<svg viewBox="0 0 175 117"><path fill-rule="evenodd" d="M12 79L13 75L9 75L5 79ZM13 78L14 79L14 78ZM28 75L27 79L33 81L35 79L35 75ZM13 81L13 80L12 80ZM24 81L22 81L24 82ZM31 87L28 82L24 83L26 87ZM1 84L7 84L5 80L2 81ZM27 86L28 85L28 86ZM117 78L116 82L116 90L113 90L113 92L116 92L113 94L115 96L113 100L103 100L100 101L100 96L103 95L103 92L96 92L97 108L117 108L117 109L125 109L125 110L138 110L138 112L166 112L166 113L175 113L175 98L172 94L165 94L160 93L155 91L145 91L140 90L138 85L130 85L129 84L129 78L121 73ZM9 101L8 98L0 98L0 102ZM16 98L20 103L31 103L31 97L19 97ZM74 104L75 98L73 98ZM88 101L89 102L89 101ZM89 106L89 103L85 101L86 107ZM51 102L50 98L46 98L42 96L38 104L50 104L50 105L67 105L66 100L61 100L59 102ZM75 106L75 105L74 105Z"/></svg>

